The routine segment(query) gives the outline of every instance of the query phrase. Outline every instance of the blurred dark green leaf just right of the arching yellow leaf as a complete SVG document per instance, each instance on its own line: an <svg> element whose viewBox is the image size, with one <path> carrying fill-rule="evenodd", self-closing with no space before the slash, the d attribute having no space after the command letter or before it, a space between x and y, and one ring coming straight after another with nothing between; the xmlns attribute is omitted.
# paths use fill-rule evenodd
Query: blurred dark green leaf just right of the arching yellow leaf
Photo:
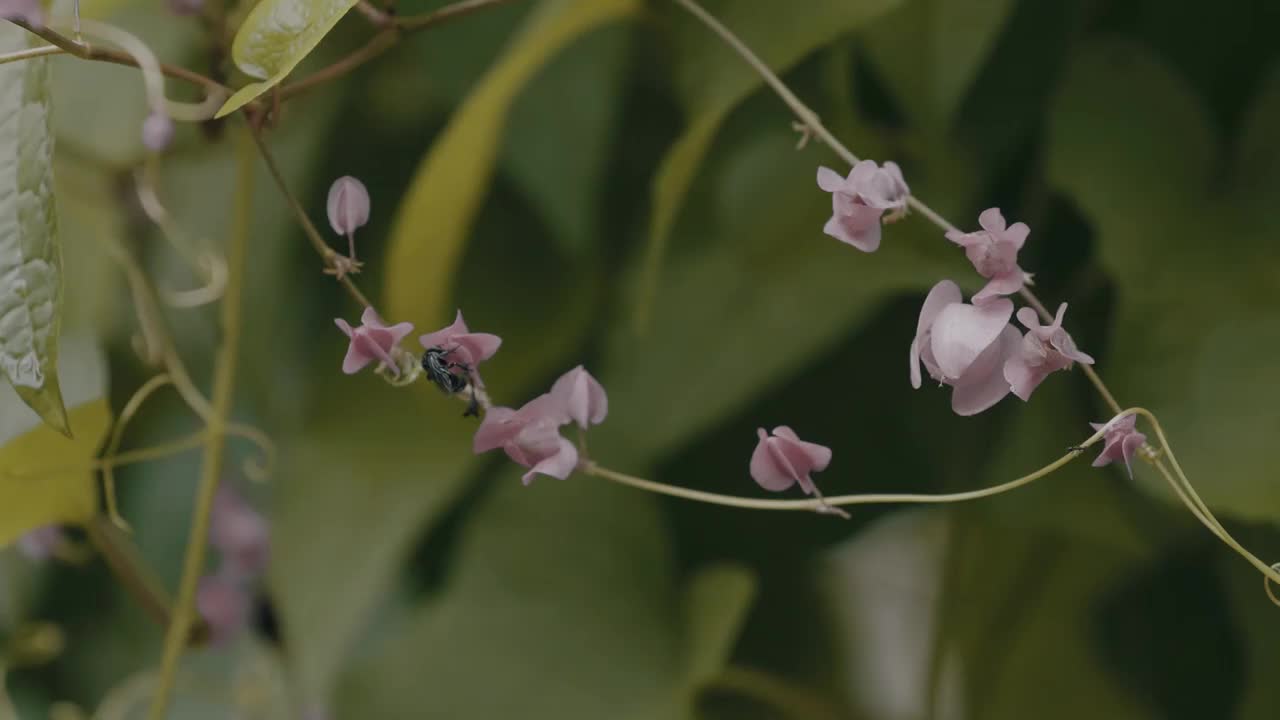
<svg viewBox="0 0 1280 720"><path fill-rule="evenodd" d="M566 255L580 256L594 241L628 40L630 28L611 27L572 44L511 109L503 167Z"/></svg>

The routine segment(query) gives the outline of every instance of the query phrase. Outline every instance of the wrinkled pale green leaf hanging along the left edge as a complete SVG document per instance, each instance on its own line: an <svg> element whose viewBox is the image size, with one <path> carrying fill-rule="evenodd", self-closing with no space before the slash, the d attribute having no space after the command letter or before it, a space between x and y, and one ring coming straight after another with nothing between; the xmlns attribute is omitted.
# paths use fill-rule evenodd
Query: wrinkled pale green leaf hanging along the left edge
<svg viewBox="0 0 1280 720"><path fill-rule="evenodd" d="M0 26L0 51L35 37ZM50 427L70 433L58 384L61 247L54 202L49 60L0 65L0 373Z"/></svg>

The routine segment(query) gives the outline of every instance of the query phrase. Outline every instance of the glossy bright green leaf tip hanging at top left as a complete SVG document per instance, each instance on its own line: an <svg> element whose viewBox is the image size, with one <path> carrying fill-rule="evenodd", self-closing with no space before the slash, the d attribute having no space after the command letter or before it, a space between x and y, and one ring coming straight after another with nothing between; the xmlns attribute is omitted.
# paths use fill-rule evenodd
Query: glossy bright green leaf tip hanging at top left
<svg viewBox="0 0 1280 720"><path fill-rule="evenodd" d="M239 110L275 87L311 53L357 0L262 0L250 10L236 40L236 67L262 82L236 91L215 117Z"/></svg>

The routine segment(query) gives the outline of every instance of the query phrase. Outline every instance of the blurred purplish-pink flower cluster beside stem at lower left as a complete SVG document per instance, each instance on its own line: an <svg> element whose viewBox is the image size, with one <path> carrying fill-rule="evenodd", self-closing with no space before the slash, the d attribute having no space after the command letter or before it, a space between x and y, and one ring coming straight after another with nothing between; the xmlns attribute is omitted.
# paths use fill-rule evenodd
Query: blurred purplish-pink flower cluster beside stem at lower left
<svg viewBox="0 0 1280 720"><path fill-rule="evenodd" d="M209 543L219 552L218 569L200 579L196 610L214 643L234 638L248 625L255 583L270 556L266 519L229 484L218 488L209 515Z"/></svg>

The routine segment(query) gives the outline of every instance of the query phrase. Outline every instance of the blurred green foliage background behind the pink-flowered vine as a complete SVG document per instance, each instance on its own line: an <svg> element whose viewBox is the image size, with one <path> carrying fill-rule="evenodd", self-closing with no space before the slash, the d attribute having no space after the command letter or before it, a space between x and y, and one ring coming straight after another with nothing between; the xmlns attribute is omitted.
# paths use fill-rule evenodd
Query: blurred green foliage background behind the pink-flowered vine
<svg viewBox="0 0 1280 720"><path fill-rule="evenodd" d="M138 0L86 8L165 61L230 69L200 20ZM1041 297L1070 302L1075 340L1121 404L1160 415L1233 533L1280 559L1280 6L708 8L859 156L900 163L952 222L972 229L988 206L1027 222L1021 265ZM372 33L348 13L289 77ZM163 288L200 281L137 205L137 72L50 63L65 331L106 348L97 389L118 413L154 370L105 249L127 249ZM796 150L792 119L667 0L529 0L406 36L289 99L268 142L321 228L335 177L369 186L357 281L389 320L426 332L457 306L504 338L485 366L495 401L520 405L585 363L611 397L593 456L622 471L758 495L754 430L787 424L833 448L827 493L951 492L1028 473L1106 419L1078 373L978 418L952 415L938 388L911 391L924 291L978 278L919 218L887 227L876 255L824 237L814 172L838 161ZM200 249L228 232L238 122L179 127L161 159L161 200ZM339 372L333 318L360 309L259 170L234 419L280 457L252 484L239 469L253 451L233 442L225 482L270 509L271 569L255 637L191 653L173 717L1280 715L1280 610L1148 468L1130 482L1082 459L989 501L865 507L847 523L586 477L522 487L504 457L471 454L454 401ZM205 384L216 313L166 313ZM161 395L125 447L196 429ZM123 512L170 588L197 468L192 454L119 473ZM59 700L137 716L160 630L101 562L0 560L8 635L49 620L68 641L8 674L20 716Z"/></svg>

